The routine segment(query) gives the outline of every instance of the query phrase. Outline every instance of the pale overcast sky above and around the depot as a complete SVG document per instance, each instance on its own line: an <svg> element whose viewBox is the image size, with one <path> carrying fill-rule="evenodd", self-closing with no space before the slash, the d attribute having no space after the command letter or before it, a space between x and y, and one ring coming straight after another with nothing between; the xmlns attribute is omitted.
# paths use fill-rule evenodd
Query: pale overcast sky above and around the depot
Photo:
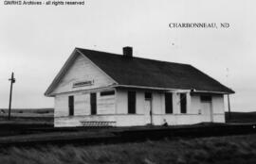
<svg viewBox="0 0 256 164"><path fill-rule="evenodd" d="M192 64L235 90L231 110L255 111L256 2L253 0L85 0L83 6L0 2L0 107L54 107L44 95L75 47ZM229 23L229 28L170 28ZM226 110L227 110L227 100Z"/></svg>

